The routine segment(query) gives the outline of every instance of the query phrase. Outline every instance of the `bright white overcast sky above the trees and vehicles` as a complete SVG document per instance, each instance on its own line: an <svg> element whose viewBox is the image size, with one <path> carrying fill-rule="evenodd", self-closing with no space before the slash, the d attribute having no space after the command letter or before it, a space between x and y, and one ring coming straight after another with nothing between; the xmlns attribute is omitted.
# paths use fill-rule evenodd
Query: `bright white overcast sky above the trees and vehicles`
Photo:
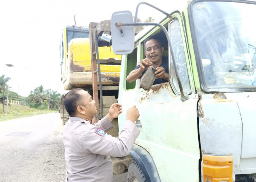
<svg viewBox="0 0 256 182"><path fill-rule="evenodd" d="M129 10L135 16L141 0L1 0L0 6L0 76L10 77L10 90L28 96L39 86L60 94L67 91L61 83L60 40L66 25L89 26L90 22L111 19L116 11ZM147 0L163 11L181 1ZM173 5L173 4L172 4ZM161 19L163 14L144 4L138 17ZM14 67L8 67L12 64Z"/></svg>

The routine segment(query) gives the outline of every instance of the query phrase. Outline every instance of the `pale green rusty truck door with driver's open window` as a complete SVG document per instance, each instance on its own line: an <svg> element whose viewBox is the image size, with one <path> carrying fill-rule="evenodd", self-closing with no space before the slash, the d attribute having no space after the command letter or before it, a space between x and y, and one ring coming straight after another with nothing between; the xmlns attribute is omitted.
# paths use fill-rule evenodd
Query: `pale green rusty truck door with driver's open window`
<svg viewBox="0 0 256 182"><path fill-rule="evenodd" d="M118 124L123 128L125 111L136 105L140 112L140 117L136 121L140 127L140 135L135 143L150 153L161 181L186 181L188 177L189 181L199 181L198 95L195 94L193 83L190 81L192 74L190 69L188 70L188 50L180 14L174 15L173 21L167 22L165 26L168 27L171 36L184 93L189 98L185 102L180 100L180 90L167 46L167 52L164 54L169 58L169 82L143 90L140 88L139 79L135 84L127 84L125 81L131 71L129 67L134 66L130 61L136 61L136 66L143 58L143 41L149 36L159 34L159 38L164 39L165 35L161 35L161 31L155 28L139 40L132 54L123 56L118 102L123 104L124 112L118 116Z"/></svg>

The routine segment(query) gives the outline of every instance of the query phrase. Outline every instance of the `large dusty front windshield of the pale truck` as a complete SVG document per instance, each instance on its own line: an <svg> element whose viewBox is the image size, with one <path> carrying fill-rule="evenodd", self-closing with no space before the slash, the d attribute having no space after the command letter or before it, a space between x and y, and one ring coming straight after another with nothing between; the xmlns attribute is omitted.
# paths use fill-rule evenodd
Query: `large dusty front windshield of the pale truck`
<svg viewBox="0 0 256 182"><path fill-rule="evenodd" d="M201 66L200 80L206 90L255 90L255 9L255 4L230 1L192 5L193 41L197 42L197 65Z"/></svg>

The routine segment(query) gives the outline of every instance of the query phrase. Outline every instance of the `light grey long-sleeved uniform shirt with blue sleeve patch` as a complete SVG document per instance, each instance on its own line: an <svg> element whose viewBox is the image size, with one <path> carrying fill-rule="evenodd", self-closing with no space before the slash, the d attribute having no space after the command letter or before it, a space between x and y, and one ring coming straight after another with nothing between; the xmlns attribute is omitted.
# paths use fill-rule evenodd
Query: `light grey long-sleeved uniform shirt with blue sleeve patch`
<svg viewBox="0 0 256 182"><path fill-rule="evenodd" d="M109 156L128 155L140 132L132 121L126 120L119 137L115 138L105 132L113 127L107 116L95 124L79 117L69 117L63 130L67 182L112 181Z"/></svg>

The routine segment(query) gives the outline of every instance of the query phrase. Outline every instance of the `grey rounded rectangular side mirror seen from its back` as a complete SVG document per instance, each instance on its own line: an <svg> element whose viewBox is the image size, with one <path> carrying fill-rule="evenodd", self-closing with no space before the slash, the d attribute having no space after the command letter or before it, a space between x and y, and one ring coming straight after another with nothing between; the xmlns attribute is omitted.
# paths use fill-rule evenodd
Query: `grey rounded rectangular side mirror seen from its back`
<svg viewBox="0 0 256 182"><path fill-rule="evenodd" d="M111 36L114 54L130 54L134 48L134 26L120 26L116 23L133 23L130 11L114 12L111 17Z"/></svg>

